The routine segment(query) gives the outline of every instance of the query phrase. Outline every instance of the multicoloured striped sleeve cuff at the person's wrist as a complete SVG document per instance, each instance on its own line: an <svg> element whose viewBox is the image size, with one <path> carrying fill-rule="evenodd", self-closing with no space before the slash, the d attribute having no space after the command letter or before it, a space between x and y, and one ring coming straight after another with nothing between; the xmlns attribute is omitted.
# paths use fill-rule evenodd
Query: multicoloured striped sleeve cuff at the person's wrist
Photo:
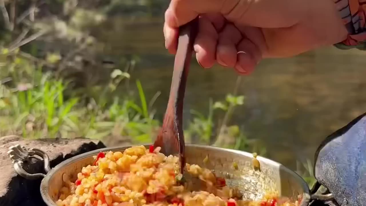
<svg viewBox="0 0 366 206"><path fill-rule="evenodd" d="M347 28L347 39L335 44L340 49L366 50L366 0L333 0Z"/></svg>

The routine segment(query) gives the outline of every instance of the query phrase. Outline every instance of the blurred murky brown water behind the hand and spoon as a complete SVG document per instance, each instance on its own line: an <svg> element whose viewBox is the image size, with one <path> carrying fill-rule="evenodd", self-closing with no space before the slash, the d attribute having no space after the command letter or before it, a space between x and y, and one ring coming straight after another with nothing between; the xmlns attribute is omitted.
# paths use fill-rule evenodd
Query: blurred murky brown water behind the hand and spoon
<svg viewBox="0 0 366 206"><path fill-rule="evenodd" d="M132 77L141 80L147 98L164 114L174 56L165 51L161 19L115 18L92 33L105 43L104 54L118 59L137 54L141 62ZM264 140L268 155L292 169L295 159L313 160L318 144L334 130L366 111L366 52L324 48L289 59L263 61L243 77L238 94L245 105L235 111L233 124L249 138ZM209 98L223 99L235 87L236 73L215 66L202 69L192 61L184 118L189 110L208 110Z"/></svg>

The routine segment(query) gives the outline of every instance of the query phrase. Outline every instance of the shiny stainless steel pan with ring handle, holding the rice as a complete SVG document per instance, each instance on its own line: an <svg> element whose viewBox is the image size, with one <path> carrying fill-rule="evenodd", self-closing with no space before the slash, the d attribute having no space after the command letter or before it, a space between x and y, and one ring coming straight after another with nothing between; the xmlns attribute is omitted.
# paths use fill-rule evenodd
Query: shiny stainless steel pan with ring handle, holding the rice
<svg viewBox="0 0 366 206"><path fill-rule="evenodd" d="M49 168L48 155L38 149L27 149L19 145L13 146L8 152L13 159L16 172L26 179L43 178L41 182L41 195L48 206L55 206L59 196L59 190L63 181L68 178L75 181L78 172L84 166L93 163L93 155L103 151L123 151L128 147L103 148L77 155L55 168ZM27 160L37 155L44 160L47 174L29 174L23 169ZM203 162L208 157L209 161ZM186 145L186 161L190 164L198 164L202 167L214 170L214 172L227 179L229 186L238 187L245 199L259 200L267 192L277 192L292 201L300 200L299 206L307 206L310 201L309 187L306 182L295 172L284 167L280 163L257 157L260 162L260 170L254 170L252 165L253 155L248 152L229 150L211 146ZM233 166L234 162L238 165Z"/></svg>

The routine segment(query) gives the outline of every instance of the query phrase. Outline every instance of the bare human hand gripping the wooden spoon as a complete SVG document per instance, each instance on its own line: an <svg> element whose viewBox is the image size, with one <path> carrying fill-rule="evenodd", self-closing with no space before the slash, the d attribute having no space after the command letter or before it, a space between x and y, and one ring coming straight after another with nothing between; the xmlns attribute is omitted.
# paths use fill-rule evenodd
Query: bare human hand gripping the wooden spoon
<svg viewBox="0 0 366 206"><path fill-rule="evenodd" d="M332 0L172 0L165 47L176 53L178 28L199 16L198 63L251 73L264 58L298 55L343 41L347 30Z"/></svg>

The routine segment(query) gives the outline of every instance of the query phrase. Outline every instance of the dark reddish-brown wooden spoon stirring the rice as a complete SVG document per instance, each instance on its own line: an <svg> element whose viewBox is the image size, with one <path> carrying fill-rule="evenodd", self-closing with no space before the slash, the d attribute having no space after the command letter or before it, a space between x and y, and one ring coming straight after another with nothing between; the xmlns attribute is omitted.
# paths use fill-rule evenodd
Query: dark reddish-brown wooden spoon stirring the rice
<svg viewBox="0 0 366 206"><path fill-rule="evenodd" d="M161 147L161 152L167 156L179 154L181 172L183 172L185 165L182 128L183 98L197 30L198 19L194 19L179 28L178 48L175 55L168 106L163 126L154 143L154 148Z"/></svg>

